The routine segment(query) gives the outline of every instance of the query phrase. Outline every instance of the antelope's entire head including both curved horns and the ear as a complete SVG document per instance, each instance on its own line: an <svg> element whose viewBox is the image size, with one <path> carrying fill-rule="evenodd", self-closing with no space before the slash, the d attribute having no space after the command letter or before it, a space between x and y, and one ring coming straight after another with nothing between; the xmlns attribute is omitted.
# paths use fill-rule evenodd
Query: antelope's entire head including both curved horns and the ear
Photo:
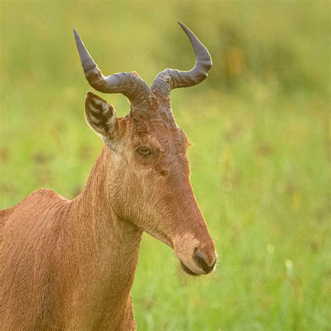
<svg viewBox="0 0 331 331"><path fill-rule="evenodd" d="M108 147L107 200L120 219L133 223L174 249L188 274L207 274L216 263L215 244L190 183L189 146L177 126L170 91L207 78L212 59L205 46L182 23L196 54L191 71L165 69L151 87L137 73L103 76L77 31L75 41L84 74L97 91L122 93L131 103L118 118L102 98L87 93L85 116Z"/></svg>

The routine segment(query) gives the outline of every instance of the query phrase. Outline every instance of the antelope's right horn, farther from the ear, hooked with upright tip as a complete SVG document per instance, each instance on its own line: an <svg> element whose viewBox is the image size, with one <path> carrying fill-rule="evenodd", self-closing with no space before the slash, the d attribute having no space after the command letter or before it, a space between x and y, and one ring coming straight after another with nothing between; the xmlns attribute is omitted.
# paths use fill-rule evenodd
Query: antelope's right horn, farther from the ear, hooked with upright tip
<svg viewBox="0 0 331 331"><path fill-rule="evenodd" d="M188 27L181 22L178 22L178 24L189 37L196 54L196 64L190 71L178 71L177 69L161 71L154 79L151 87L156 94L167 96L172 89L196 85L207 78L208 71L212 68L212 57L210 57L207 48Z"/></svg>

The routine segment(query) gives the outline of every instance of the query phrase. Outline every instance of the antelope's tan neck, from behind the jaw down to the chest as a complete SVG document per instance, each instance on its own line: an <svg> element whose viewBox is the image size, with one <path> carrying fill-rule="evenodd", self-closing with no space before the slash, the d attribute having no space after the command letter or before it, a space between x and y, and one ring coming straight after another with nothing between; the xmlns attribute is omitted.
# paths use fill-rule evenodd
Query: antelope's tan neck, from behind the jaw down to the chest
<svg viewBox="0 0 331 331"><path fill-rule="evenodd" d="M98 315L99 321L122 317L142 236L142 230L123 221L107 199L109 166L110 151L103 147L84 190L72 202L65 231L71 260L67 267L75 279L70 296L84 305L81 310L86 314Z"/></svg>

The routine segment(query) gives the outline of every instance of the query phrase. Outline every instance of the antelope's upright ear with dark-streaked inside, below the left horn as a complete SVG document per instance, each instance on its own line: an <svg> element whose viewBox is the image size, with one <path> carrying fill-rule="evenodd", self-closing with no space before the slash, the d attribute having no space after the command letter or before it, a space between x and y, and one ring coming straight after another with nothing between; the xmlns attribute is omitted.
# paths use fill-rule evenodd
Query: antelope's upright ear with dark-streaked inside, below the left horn
<svg viewBox="0 0 331 331"><path fill-rule="evenodd" d="M85 117L89 126L101 135L105 144L111 149L114 149L117 131L115 109L107 101L96 96L96 94L87 92L85 98Z"/></svg>

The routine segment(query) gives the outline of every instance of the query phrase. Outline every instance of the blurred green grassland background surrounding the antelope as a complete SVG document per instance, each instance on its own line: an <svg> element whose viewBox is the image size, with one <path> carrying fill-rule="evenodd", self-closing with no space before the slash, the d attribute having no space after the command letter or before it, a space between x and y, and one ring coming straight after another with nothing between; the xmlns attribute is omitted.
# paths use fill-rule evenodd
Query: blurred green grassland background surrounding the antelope
<svg viewBox="0 0 331 331"><path fill-rule="evenodd" d="M40 187L74 198L102 142L78 29L104 74L189 70L182 21L209 78L172 91L192 184L219 252L210 277L180 272L144 235L138 330L330 330L329 1L1 1L0 208ZM119 115L122 95L102 95Z"/></svg>

